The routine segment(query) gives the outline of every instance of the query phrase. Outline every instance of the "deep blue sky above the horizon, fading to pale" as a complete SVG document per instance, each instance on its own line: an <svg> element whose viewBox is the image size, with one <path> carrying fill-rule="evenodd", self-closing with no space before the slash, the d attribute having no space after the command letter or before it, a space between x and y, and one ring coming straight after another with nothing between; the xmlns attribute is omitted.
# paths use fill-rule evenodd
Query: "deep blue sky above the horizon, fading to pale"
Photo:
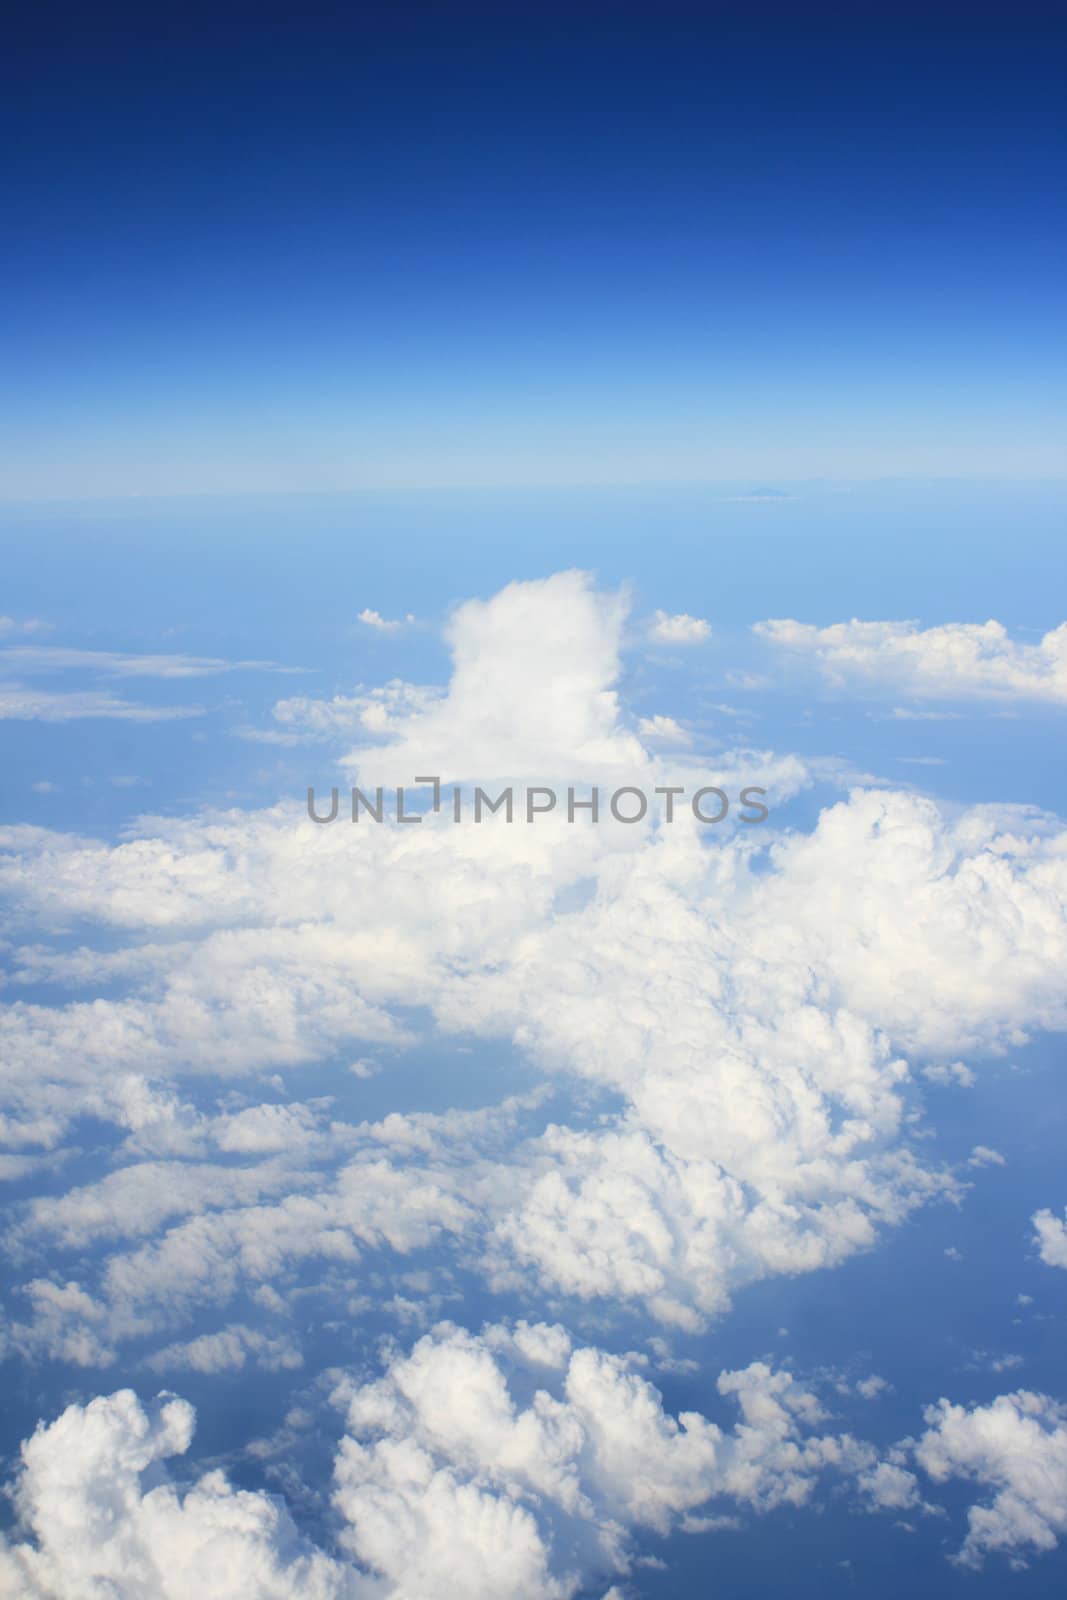
<svg viewBox="0 0 1067 1600"><path fill-rule="evenodd" d="M0 498L1062 472L1061 6L294 11L8 24Z"/></svg>

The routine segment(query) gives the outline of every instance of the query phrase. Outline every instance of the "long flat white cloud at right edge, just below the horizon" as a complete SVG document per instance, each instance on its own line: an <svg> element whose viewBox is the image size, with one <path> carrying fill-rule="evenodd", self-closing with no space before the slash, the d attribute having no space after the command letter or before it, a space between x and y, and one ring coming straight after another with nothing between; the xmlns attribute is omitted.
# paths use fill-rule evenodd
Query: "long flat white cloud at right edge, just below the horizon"
<svg viewBox="0 0 1067 1600"><path fill-rule="evenodd" d="M771 645L809 656L833 683L878 682L917 696L1067 701L1067 622L1019 645L1001 622L757 622Z"/></svg>

